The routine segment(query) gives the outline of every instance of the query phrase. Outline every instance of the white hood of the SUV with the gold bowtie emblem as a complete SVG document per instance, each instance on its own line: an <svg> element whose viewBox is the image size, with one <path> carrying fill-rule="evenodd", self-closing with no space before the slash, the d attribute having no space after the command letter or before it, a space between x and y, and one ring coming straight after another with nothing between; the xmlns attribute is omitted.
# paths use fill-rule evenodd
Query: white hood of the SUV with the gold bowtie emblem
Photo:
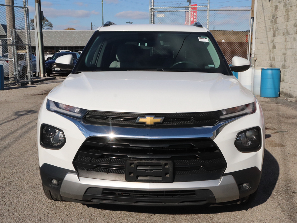
<svg viewBox="0 0 297 223"><path fill-rule="evenodd" d="M139 113L209 112L255 101L234 76L161 71L70 74L48 99L88 110Z"/></svg>

